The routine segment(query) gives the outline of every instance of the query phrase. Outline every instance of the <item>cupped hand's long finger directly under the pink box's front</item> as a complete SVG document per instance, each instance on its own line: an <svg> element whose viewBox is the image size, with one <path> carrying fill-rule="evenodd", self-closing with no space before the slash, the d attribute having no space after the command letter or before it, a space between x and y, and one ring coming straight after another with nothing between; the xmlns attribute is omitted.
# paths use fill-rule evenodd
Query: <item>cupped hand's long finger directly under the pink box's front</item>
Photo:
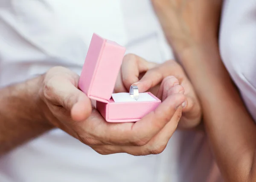
<svg viewBox="0 0 256 182"><path fill-rule="evenodd" d="M89 128L87 132L104 144L145 145L170 121L184 100L183 94L169 96L155 111L151 111L135 123L110 123L90 116L82 128Z"/></svg>

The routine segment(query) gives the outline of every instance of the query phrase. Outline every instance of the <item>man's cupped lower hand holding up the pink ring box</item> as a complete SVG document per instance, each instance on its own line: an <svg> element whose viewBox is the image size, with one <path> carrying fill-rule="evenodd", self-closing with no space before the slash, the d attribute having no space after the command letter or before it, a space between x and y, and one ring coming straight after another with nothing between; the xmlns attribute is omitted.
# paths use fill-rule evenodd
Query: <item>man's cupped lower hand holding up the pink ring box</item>
<svg viewBox="0 0 256 182"><path fill-rule="evenodd" d="M51 68L39 93L51 125L61 128L99 154L159 154L167 145L181 117L185 96L169 94L155 111L138 122L110 123L91 106L78 89L79 76L67 68Z"/></svg>

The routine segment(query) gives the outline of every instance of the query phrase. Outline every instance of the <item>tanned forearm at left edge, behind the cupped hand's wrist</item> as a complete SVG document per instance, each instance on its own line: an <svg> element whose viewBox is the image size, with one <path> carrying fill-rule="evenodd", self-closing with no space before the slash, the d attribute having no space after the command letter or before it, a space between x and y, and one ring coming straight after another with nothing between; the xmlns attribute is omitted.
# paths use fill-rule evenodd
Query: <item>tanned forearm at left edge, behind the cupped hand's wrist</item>
<svg viewBox="0 0 256 182"><path fill-rule="evenodd" d="M51 129L38 91L41 77L0 89L0 156Z"/></svg>

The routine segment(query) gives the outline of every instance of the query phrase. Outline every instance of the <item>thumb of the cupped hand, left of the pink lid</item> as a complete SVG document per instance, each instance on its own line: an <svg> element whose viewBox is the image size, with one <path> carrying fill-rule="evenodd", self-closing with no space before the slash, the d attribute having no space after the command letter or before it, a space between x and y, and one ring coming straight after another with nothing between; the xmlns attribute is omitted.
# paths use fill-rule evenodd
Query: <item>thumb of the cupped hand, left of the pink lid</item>
<svg viewBox="0 0 256 182"><path fill-rule="evenodd" d="M66 68L51 69L46 74L43 93L48 103L70 111L75 120L83 120L90 114L91 103L77 88L78 80L79 76Z"/></svg>

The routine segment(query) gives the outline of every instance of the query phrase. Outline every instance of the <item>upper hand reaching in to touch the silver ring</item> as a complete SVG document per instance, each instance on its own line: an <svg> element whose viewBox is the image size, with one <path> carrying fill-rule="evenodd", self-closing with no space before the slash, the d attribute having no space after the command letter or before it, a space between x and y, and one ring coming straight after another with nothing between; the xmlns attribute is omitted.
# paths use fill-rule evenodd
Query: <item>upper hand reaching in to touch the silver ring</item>
<svg viewBox="0 0 256 182"><path fill-rule="evenodd" d="M151 91L160 100L173 93L184 93L181 128L193 128L201 121L201 106L183 68L174 60L163 64L150 63L134 54L127 54L116 81L115 92L128 92L132 84L140 92ZM185 92L184 92L185 90Z"/></svg>

